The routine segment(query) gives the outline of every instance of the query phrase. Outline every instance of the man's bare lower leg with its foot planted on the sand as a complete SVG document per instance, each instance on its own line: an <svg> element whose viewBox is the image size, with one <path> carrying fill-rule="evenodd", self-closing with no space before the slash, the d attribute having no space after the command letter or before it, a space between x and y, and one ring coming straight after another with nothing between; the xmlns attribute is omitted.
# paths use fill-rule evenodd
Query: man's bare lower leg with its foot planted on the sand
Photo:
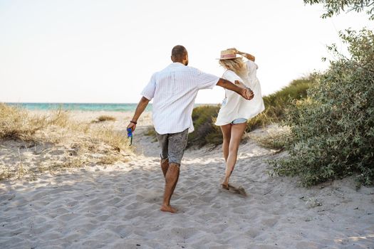
<svg viewBox="0 0 374 249"><path fill-rule="evenodd" d="M160 208L161 211L176 213L177 209L170 206L170 198L174 193L175 186L177 186L178 178L180 177L180 166L178 164L171 163L165 176L165 193L164 201Z"/></svg>

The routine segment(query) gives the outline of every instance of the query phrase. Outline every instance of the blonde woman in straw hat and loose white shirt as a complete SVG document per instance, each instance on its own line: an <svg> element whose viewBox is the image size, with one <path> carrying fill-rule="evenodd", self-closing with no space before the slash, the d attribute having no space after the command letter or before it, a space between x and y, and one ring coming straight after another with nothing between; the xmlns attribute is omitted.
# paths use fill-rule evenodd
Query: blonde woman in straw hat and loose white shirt
<svg viewBox="0 0 374 249"><path fill-rule="evenodd" d="M248 60L244 61L242 57L237 57L237 55L242 55ZM247 120L265 109L260 83L256 77L258 66L254 60L253 55L237 51L236 48L222 51L219 59L219 64L226 69L222 78L243 88L250 88L254 92L252 100L244 100L234 92L225 90L226 95L215 123L221 127L223 135L222 150L226 161L226 171L222 181L224 189L229 189L229 177L237 162L239 144L246 129Z"/></svg>

